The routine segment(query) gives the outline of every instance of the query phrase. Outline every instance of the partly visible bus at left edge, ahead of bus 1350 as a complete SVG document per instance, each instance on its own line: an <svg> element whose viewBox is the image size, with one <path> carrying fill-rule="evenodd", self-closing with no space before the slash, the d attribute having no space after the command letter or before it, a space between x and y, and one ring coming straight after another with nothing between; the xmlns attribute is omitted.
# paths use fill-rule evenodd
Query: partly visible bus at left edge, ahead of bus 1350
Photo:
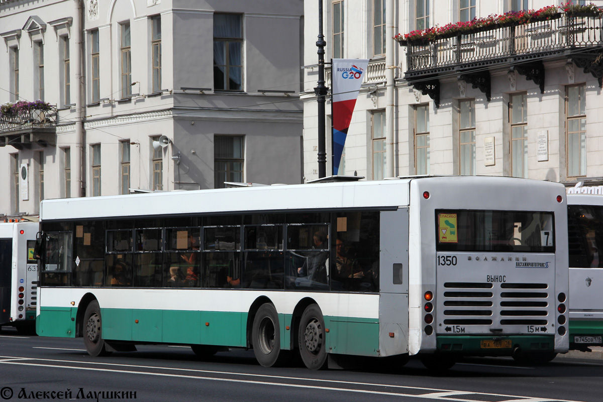
<svg viewBox="0 0 603 402"><path fill-rule="evenodd" d="M37 304L37 222L0 223L0 325L33 331Z"/></svg>

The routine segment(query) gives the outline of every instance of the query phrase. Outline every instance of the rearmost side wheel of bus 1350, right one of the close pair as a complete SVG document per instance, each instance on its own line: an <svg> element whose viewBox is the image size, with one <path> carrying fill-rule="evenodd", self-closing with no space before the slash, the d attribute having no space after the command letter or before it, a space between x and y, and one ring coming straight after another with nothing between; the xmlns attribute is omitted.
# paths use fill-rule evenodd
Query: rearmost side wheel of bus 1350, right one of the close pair
<svg viewBox="0 0 603 402"><path fill-rule="evenodd" d="M327 366L327 344L323 313L317 304L306 307L300 319L298 346L303 363L311 370Z"/></svg>

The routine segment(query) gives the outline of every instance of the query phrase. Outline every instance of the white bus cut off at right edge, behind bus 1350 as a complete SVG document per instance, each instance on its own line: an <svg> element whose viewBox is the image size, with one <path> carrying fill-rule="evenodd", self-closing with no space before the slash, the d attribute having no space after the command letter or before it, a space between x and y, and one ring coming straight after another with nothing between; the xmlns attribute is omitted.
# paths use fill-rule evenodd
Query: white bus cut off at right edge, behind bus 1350
<svg viewBox="0 0 603 402"><path fill-rule="evenodd" d="M570 350L603 346L603 195L567 195Z"/></svg>

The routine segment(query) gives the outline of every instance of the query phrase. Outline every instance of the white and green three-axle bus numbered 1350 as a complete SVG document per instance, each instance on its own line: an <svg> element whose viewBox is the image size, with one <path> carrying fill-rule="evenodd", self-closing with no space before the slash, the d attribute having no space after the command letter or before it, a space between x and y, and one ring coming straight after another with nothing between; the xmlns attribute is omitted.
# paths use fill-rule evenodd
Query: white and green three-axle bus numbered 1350
<svg viewBox="0 0 603 402"><path fill-rule="evenodd" d="M569 345L564 193L422 177L45 200L37 333L311 369L548 360Z"/></svg>

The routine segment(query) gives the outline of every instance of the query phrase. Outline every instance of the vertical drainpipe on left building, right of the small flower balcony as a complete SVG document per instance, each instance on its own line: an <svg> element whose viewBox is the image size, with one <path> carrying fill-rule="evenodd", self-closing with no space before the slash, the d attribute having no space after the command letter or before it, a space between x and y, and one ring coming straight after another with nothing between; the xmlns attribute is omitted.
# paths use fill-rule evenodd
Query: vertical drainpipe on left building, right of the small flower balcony
<svg viewBox="0 0 603 402"><path fill-rule="evenodd" d="M75 67L75 143L74 143L74 152L71 155L71 163L74 166L72 169L72 178L71 180L75 182L75 186L77 188L76 192L72 192L74 196L81 197L86 194L86 189L84 189L84 182L82 180L83 172L84 172L84 121L83 121L83 108L82 108L82 92L83 92L83 77L81 75L81 61L82 54L84 52L83 46L84 42L82 40L82 19L83 19L83 9L82 9L82 0L74 0L75 1L75 17L74 17L74 33L75 33L75 54L74 63L72 66ZM71 187L73 188L73 186Z"/></svg>

